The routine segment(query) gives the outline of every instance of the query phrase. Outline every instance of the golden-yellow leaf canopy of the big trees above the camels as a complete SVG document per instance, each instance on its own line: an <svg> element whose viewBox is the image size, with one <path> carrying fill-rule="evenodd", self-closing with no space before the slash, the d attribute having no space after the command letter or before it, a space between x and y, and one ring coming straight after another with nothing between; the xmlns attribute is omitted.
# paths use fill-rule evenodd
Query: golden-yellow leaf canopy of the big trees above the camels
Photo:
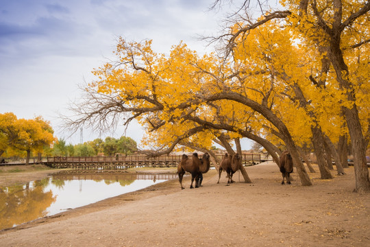
<svg viewBox="0 0 370 247"><path fill-rule="evenodd" d="M330 27L332 3L316 2ZM344 19L362 5L360 1L342 2ZM343 32L343 54L349 66L349 75L345 76L356 82L356 102L349 102L347 92L338 85L334 69L329 66L324 71L327 54L317 46L328 45L327 34L315 24L317 19L310 13L311 8L307 15L299 13L299 3L283 0L282 5L292 10L287 19L264 23L250 30L247 38L238 36L229 60L217 54L199 57L184 43L174 45L165 56L151 49L151 40L136 43L119 38L114 51L116 62L95 69L97 80L89 87L98 93L114 95L123 111L145 126L143 144L158 148L169 147L179 138L210 148L220 130L203 126L201 132L187 135L189 130L202 126L189 120L194 117L232 126L232 131L223 130L232 138L240 137L238 130L247 130L277 143L271 137L277 128L254 109L225 99L212 104L204 101L211 95L227 92L238 93L269 108L299 145L310 143L312 126L319 126L336 140L347 130L343 128L342 106L356 104L364 126L370 118L369 45L355 50L348 45L363 40L369 20L364 17L353 24L361 32ZM237 32L243 24L230 29Z"/></svg>

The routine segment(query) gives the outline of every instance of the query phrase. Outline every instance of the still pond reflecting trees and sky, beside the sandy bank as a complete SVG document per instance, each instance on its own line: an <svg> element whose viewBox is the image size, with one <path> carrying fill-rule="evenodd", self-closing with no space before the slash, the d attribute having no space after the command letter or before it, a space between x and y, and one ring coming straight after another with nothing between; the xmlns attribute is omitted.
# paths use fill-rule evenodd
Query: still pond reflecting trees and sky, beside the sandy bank
<svg viewBox="0 0 370 247"><path fill-rule="evenodd" d="M0 187L0 230L144 189L176 174L55 174L26 185Z"/></svg>

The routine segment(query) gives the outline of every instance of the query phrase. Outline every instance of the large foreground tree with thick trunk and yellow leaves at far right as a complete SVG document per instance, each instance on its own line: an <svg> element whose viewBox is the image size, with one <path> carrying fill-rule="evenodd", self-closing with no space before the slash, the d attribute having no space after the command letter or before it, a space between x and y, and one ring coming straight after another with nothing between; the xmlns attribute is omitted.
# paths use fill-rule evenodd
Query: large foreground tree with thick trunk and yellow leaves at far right
<svg viewBox="0 0 370 247"><path fill-rule="evenodd" d="M299 42L312 49L310 54L317 54L317 62L321 63L317 69L320 69L309 78L319 90L328 90L330 97L338 98L336 104L340 106L341 114L331 120L345 119L354 155L356 191L369 191L365 152L369 143L370 117L367 106L364 107L364 104L369 104L364 100L368 99L370 1L282 0L280 3L284 10L264 10L261 6L263 14L256 20L251 20L251 15L240 14L241 19L247 21L221 36L226 39L226 49L232 51L240 39L249 38L251 30L269 25L272 20L286 21L284 25L291 27L291 32L299 36ZM248 4L243 6L245 13L248 13ZM275 23L278 23L277 27L281 26L280 21ZM301 76L304 77L304 73ZM324 134L324 137L329 134L322 133L320 128L315 131Z"/></svg>

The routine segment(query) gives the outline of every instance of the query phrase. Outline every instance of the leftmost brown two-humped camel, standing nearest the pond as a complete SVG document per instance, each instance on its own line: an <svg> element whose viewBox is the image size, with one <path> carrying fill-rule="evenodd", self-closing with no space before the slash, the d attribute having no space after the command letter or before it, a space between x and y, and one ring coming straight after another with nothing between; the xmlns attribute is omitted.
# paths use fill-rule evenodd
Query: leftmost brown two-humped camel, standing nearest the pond
<svg viewBox="0 0 370 247"><path fill-rule="evenodd" d="M192 158L188 158L186 154L182 154L181 161L177 166L177 175L179 176L179 182L181 185L181 189L185 189L182 187L182 178L184 177L185 172L190 172L191 174L191 184L190 189L193 189L193 182L195 180L195 188L199 187L199 167L201 165L201 161L198 158L197 153L193 153Z"/></svg>

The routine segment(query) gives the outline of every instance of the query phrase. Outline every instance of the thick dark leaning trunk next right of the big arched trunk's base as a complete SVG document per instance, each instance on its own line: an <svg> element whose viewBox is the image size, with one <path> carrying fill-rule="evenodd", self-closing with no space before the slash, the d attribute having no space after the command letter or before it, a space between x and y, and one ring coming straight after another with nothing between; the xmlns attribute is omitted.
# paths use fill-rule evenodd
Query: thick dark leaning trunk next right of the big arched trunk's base
<svg viewBox="0 0 370 247"><path fill-rule="evenodd" d="M314 144L314 154L316 154L317 165L319 165L319 171L321 179L330 179L333 178L330 170L325 165L325 158L323 154L323 136L321 130L317 126L312 126L312 141Z"/></svg>

